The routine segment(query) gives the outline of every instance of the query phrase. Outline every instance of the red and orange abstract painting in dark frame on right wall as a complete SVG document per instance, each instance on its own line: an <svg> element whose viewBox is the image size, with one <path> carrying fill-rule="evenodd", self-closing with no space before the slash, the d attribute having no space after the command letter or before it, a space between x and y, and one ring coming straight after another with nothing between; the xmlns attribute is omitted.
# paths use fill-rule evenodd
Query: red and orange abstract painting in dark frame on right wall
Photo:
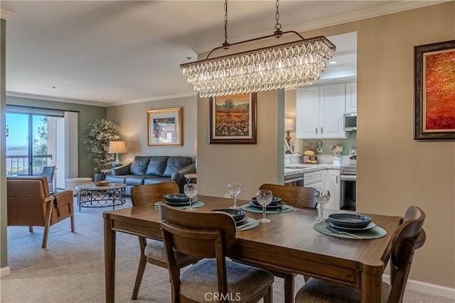
<svg viewBox="0 0 455 303"><path fill-rule="evenodd" d="M455 40L414 46L414 140L455 139Z"/></svg>

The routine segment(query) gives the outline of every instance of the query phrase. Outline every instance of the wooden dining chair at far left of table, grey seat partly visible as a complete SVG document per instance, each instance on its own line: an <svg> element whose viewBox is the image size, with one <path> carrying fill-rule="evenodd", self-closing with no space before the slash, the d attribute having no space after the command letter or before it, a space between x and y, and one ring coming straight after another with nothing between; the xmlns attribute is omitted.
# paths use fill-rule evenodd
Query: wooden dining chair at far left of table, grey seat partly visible
<svg viewBox="0 0 455 303"><path fill-rule="evenodd" d="M137 185L131 189L131 201L133 206L150 204L154 207L154 203L164 199L166 194L177 194L180 191L176 182L162 182L156 184ZM137 299L139 287L141 287L142 277L147 263L158 265L161 268L168 268L166 262L166 252L164 244L161 240L149 239L139 236L139 246L141 248L141 258L139 259L139 267L137 268L136 281L132 299ZM177 264L180 268L195 263L198 258L183 253L176 253Z"/></svg>

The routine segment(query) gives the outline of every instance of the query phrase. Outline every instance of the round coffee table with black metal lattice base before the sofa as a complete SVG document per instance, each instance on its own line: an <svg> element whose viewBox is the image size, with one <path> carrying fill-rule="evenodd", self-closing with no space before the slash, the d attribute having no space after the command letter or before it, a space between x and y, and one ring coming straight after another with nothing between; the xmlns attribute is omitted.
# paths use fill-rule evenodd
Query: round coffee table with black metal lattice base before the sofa
<svg viewBox="0 0 455 303"><path fill-rule="evenodd" d="M125 204L125 187L124 183L111 183L106 186L97 186L95 184L77 185L77 206L79 211L81 207L105 207Z"/></svg>

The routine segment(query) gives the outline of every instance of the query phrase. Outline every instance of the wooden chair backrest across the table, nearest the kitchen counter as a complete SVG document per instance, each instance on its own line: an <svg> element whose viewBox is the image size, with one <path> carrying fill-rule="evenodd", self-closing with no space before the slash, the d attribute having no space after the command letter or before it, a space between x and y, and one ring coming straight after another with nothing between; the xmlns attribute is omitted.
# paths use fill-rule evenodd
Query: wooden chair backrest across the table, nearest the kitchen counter
<svg viewBox="0 0 455 303"><path fill-rule="evenodd" d="M274 197L279 197L284 203L299 209L316 208L316 189L313 187L286 186L279 184L262 184L259 189L269 189Z"/></svg>

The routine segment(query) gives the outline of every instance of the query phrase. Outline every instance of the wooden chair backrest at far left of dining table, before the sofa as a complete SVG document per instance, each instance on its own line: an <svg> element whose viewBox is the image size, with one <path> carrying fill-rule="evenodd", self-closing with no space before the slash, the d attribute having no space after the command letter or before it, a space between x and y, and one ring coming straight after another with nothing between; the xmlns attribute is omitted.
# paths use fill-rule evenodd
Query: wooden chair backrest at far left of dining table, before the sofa
<svg viewBox="0 0 455 303"><path fill-rule="evenodd" d="M178 194L179 191L176 182L162 182L132 187L130 196L133 206L137 206L159 202L166 194Z"/></svg>

